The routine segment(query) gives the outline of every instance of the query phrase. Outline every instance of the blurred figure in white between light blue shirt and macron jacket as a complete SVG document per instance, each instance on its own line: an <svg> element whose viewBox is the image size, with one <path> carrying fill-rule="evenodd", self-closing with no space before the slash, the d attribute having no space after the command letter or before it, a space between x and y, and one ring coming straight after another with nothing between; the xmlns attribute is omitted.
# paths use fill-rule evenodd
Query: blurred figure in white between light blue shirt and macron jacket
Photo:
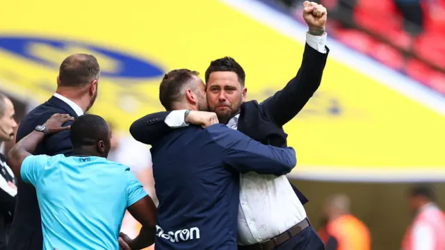
<svg viewBox="0 0 445 250"><path fill-rule="evenodd" d="M130 171L136 175L145 191L152 197L156 206L158 200L154 192L154 179L152 172L152 155L149 148L127 133L119 133L111 122L108 123L113 133L111 138L111 150L108 160L127 165ZM128 212L122 221L121 231L134 238L138 235L140 224ZM149 247L148 249L152 249Z"/></svg>

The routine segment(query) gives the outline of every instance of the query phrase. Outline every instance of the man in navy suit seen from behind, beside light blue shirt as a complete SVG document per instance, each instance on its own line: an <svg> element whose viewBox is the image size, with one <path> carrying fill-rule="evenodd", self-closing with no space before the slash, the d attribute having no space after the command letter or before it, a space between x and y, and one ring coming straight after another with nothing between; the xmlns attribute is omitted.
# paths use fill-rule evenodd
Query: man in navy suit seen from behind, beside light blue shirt
<svg viewBox="0 0 445 250"><path fill-rule="evenodd" d="M56 113L72 117L83 115L97 97L99 63L94 56L74 54L60 65L56 93L45 103L26 115L17 131L17 142L39 129L39 126ZM44 139L35 154L70 155L70 132L62 131ZM11 226L9 250L42 250L42 222L40 208L33 185L18 180L17 205Z"/></svg>

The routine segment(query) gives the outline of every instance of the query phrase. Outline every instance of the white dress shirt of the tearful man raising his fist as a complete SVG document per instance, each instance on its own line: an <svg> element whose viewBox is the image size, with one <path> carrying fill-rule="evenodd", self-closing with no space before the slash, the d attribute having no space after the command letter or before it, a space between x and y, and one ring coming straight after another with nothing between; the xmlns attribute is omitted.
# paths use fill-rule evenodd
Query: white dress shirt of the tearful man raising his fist
<svg viewBox="0 0 445 250"><path fill-rule="evenodd" d="M326 34L306 35L307 44L326 53ZM172 128L187 126L185 110L172 111L165 124ZM229 120L229 128L238 128L236 115ZM241 174L238 210L238 244L249 245L269 240L307 217L305 208L293 191L286 176L249 172Z"/></svg>

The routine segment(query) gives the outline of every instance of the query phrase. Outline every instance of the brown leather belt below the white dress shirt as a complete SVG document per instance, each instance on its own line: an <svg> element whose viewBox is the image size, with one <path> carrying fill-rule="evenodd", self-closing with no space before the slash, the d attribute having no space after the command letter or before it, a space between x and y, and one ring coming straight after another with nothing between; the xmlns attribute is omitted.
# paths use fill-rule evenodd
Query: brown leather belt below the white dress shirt
<svg viewBox="0 0 445 250"><path fill-rule="evenodd" d="M287 230L286 232L277 235L274 238L257 244L238 246L238 250L273 250L275 249L275 247L280 246L280 244L283 244L284 242L298 235L298 233L301 233L303 229L307 228L310 225L311 224L309 224L309 220L307 218L303 219L302 222L296 224L295 226L289 228L289 230Z"/></svg>

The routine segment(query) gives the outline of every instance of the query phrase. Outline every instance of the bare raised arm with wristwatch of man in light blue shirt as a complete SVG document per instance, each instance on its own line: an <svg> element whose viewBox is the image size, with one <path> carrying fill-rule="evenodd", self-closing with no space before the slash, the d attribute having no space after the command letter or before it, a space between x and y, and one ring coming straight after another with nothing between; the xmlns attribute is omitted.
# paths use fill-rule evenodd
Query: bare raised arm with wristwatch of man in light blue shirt
<svg viewBox="0 0 445 250"><path fill-rule="evenodd" d="M52 115L43 125L46 127L46 134L58 133L70 129L70 126L62 126L66 122L73 121L74 118L70 115L55 114ZM15 176L21 178L20 169L24 159L31 156L35 148L45 137L45 133L40 131L33 131L26 135L22 140L17 142L15 146L9 151L8 162L13 169Z"/></svg>

